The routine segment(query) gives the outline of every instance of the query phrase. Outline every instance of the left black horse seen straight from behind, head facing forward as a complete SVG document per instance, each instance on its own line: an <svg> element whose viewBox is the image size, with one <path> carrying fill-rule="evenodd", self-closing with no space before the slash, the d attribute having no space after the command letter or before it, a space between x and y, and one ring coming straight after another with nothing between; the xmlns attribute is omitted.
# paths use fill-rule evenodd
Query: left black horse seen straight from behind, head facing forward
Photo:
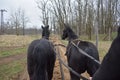
<svg viewBox="0 0 120 80"><path fill-rule="evenodd" d="M42 27L42 39L28 47L27 67L30 80L52 80L56 53L49 39L49 26Z"/></svg>

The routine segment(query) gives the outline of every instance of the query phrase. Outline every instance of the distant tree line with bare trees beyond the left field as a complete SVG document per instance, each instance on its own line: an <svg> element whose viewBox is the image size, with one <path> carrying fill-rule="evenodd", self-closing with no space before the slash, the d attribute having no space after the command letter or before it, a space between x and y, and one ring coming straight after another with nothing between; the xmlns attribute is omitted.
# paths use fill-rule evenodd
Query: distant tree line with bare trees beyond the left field
<svg viewBox="0 0 120 80"><path fill-rule="evenodd" d="M36 35L41 33L41 29L37 29L37 26L26 28L28 23L30 23L29 17L27 17L23 9L18 8L3 23L3 31L0 28L0 34Z"/></svg>

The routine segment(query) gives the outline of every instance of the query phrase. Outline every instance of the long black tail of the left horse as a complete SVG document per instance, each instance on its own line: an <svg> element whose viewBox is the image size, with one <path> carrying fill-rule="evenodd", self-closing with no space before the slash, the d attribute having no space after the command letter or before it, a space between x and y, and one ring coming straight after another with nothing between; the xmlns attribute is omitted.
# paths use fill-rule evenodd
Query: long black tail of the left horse
<svg viewBox="0 0 120 80"><path fill-rule="evenodd" d="M33 80L47 80L47 55L45 54L44 50L42 50L42 48L39 46L35 47L33 51L33 57L35 60Z"/></svg>

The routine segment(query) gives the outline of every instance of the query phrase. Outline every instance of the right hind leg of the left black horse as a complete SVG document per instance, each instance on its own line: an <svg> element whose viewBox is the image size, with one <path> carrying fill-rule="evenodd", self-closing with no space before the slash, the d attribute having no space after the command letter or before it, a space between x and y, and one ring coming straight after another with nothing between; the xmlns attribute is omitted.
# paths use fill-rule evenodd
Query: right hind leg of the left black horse
<svg viewBox="0 0 120 80"><path fill-rule="evenodd" d="M55 60L56 60L56 58L55 58L55 56L53 56L48 61L48 65L47 65L48 80L52 80Z"/></svg>

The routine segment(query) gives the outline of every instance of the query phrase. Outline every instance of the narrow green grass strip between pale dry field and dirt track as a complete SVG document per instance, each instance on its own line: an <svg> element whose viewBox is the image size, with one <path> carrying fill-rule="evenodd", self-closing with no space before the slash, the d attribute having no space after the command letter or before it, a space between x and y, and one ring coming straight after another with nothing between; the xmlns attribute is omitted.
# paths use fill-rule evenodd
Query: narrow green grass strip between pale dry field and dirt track
<svg viewBox="0 0 120 80"><path fill-rule="evenodd" d="M21 54L21 53L26 53L26 47L0 51L0 58L8 57L8 56L16 55L16 54Z"/></svg>

